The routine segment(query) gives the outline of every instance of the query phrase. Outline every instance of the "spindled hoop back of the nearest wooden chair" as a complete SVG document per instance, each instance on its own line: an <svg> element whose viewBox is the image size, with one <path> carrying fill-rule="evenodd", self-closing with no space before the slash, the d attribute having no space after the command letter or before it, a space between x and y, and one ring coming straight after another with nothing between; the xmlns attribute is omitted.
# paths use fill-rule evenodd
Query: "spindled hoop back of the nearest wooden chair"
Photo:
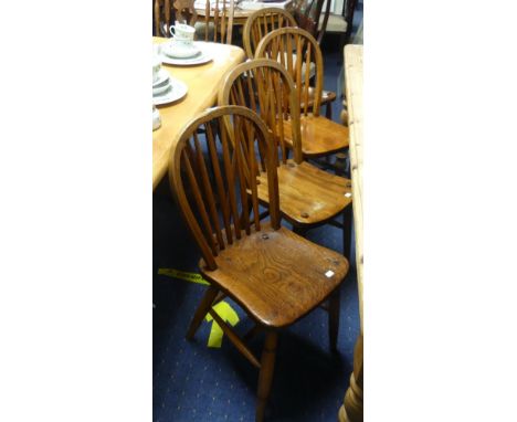
<svg viewBox="0 0 517 422"><path fill-rule="evenodd" d="M205 136L198 135L199 128ZM257 149L267 172L271 224L277 230L274 150L267 127L255 113L240 106L211 108L191 120L173 143L170 187L210 271L217 268L214 257L221 250L252 229L261 230Z"/></svg>

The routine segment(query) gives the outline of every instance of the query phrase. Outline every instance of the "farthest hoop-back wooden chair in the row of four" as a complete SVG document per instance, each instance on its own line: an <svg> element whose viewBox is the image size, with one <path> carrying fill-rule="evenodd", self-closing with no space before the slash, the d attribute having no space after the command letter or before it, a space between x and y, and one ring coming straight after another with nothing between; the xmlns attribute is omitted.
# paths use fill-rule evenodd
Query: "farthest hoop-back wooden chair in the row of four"
<svg viewBox="0 0 517 422"><path fill-rule="evenodd" d="M242 31L244 50L249 59L253 59L256 48L261 40L271 31L279 28L298 27L295 18L284 9L266 8L253 12L247 18ZM310 74L314 67L310 67ZM313 75L310 75L313 76ZM310 89L309 104L313 102L314 91ZM333 118L333 102L336 99L336 93L331 91L321 91L321 105L326 106L325 115Z"/></svg>

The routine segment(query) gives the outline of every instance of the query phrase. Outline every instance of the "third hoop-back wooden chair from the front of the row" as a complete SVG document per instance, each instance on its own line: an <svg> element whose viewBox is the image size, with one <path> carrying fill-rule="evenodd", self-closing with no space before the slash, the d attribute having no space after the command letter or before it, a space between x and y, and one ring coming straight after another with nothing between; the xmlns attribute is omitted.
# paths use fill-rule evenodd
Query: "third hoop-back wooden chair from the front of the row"
<svg viewBox="0 0 517 422"><path fill-rule="evenodd" d="M295 52L296 56L291 54L292 52ZM319 115L324 65L321 50L315 38L299 28L277 29L258 43L255 59L276 59L295 82L302 114L303 156L312 159L346 151L349 145L348 128ZM309 68L312 63L315 67L314 88L309 84L308 72L303 72L303 68ZM310 89L314 89L312 102ZM292 148L293 133L288 120L284 122L284 137Z"/></svg>

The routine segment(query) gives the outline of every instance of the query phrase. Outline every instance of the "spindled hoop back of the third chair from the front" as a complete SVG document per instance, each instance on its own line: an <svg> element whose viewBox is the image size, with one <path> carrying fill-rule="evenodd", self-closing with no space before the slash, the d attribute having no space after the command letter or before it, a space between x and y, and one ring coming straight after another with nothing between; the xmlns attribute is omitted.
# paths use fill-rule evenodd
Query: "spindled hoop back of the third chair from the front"
<svg viewBox="0 0 517 422"><path fill-rule="evenodd" d="M321 50L315 38L299 28L279 28L258 43L255 59L262 57L276 60L286 68L298 89L300 113L319 116L324 67ZM314 76L310 76L312 68ZM310 84L313 77L314 83Z"/></svg>

